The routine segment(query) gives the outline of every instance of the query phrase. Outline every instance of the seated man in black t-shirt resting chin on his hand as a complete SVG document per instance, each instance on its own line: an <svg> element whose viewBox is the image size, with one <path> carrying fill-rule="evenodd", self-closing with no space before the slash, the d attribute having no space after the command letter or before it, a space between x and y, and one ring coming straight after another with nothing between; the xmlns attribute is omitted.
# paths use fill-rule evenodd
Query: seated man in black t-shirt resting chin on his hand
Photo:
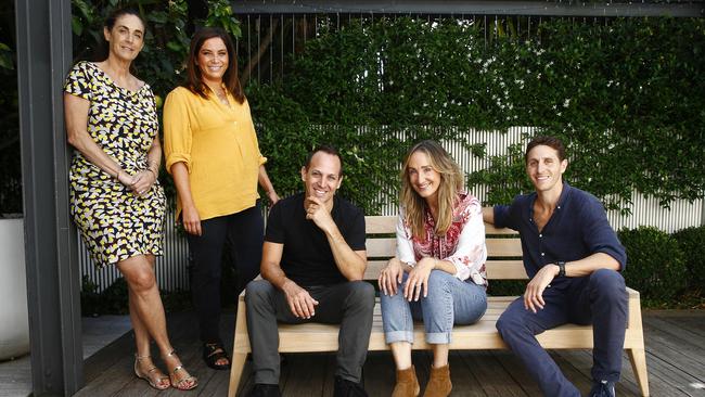
<svg viewBox="0 0 705 397"><path fill-rule="evenodd" d="M339 323L334 396L367 396L360 385L372 329L374 287L364 281L364 215L337 197L343 163L321 146L302 168L304 193L271 209L261 276L247 285L247 331L255 386L248 396L280 396L277 322Z"/></svg>

